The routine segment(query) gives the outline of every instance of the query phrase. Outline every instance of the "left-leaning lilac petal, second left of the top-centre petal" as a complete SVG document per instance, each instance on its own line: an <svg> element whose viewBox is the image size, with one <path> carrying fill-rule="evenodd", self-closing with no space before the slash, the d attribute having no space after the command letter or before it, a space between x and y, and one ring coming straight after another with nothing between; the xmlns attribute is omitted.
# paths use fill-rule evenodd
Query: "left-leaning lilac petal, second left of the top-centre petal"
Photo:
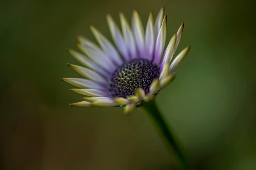
<svg viewBox="0 0 256 170"><path fill-rule="evenodd" d="M119 28L117 27L116 23L114 22L114 20L112 19L110 14L107 15L107 21L108 21L109 29L110 29L113 41L115 43L115 46L120 51L120 53L123 55L125 60L129 61L130 60L129 52L128 52L128 48L125 45L122 33L119 30Z"/></svg>

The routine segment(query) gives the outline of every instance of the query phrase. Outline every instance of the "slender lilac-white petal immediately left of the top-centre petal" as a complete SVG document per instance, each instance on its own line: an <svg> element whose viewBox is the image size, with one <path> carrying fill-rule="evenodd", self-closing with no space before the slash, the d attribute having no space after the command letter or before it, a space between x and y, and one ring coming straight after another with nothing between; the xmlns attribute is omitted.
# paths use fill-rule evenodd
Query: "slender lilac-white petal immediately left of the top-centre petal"
<svg viewBox="0 0 256 170"><path fill-rule="evenodd" d="M135 44L134 36L133 36L132 31L129 27L128 21L125 18L123 13L120 13L120 21L121 21L124 41L125 41L126 45L128 46L131 58L137 58L137 50L136 50L136 44Z"/></svg>

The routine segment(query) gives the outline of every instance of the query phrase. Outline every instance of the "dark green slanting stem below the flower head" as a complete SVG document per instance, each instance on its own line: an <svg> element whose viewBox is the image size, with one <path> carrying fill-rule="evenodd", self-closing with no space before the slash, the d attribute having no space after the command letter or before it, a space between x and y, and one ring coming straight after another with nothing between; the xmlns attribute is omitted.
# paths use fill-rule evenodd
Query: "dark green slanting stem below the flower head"
<svg viewBox="0 0 256 170"><path fill-rule="evenodd" d="M179 146L174 140L173 135L167 128L167 125L164 121L164 119L161 116L160 111L158 110L155 100L152 102L143 105L142 107L145 112L147 113L147 116L149 117L151 123L154 125L155 129L158 131L159 135L162 137L164 142L167 144L171 154L174 152L176 154L177 160L179 160L179 163L177 163L178 166L182 170L188 170L190 168L188 162L186 161L184 155L182 154L181 150L179 149ZM172 149L171 149L172 148Z"/></svg>

